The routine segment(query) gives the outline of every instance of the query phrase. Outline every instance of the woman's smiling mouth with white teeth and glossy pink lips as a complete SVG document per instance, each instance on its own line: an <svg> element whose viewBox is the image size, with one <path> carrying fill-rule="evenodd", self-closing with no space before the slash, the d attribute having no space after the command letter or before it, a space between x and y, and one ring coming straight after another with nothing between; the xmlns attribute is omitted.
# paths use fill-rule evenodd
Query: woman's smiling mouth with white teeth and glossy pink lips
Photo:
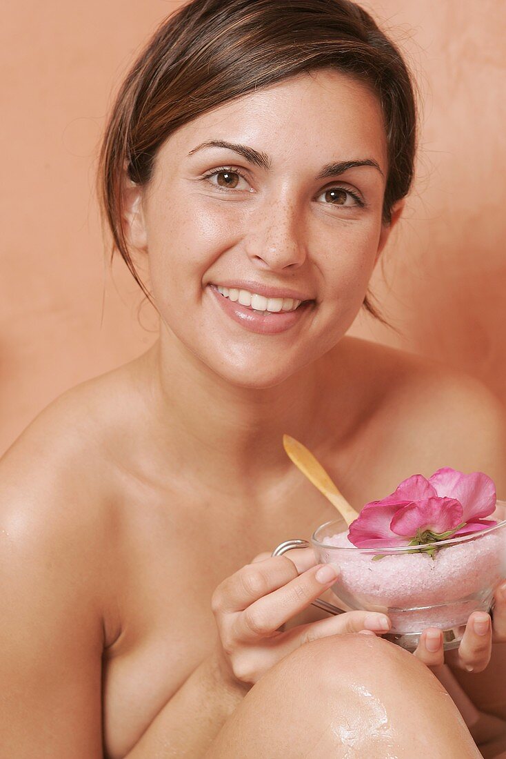
<svg viewBox="0 0 506 759"><path fill-rule="evenodd" d="M278 334L301 323L303 315L313 310L315 301L296 298L267 298L258 293L207 285L215 301L228 317L250 332L264 335Z"/></svg>

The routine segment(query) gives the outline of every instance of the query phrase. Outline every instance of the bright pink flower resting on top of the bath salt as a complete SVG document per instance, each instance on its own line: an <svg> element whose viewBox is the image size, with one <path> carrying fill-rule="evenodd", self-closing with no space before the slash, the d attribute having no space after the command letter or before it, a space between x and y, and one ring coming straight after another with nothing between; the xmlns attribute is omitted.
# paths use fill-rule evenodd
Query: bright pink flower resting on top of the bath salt
<svg viewBox="0 0 506 759"><path fill-rule="evenodd" d="M360 548L416 546L485 530L496 524L497 496L486 474L449 467L427 480L413 474L386 498L366 503L350 524L348 540Z"/></svg>

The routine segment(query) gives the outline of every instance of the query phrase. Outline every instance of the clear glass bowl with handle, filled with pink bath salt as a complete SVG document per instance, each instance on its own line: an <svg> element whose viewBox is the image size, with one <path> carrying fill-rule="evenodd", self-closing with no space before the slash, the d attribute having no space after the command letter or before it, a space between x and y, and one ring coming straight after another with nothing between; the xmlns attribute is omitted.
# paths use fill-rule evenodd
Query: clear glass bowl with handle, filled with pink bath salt
<svg viewBox="0 0 506 759"><path fill-rule="evenodd" d="M417 546L435 548L433 559L413 547L357 548L344 540L342 519L317 528L311 544L319 562L341 568L332 585L341 609L388 614L392 627L385 638L408 650L415 650L424 629L438 627L448 649L458 646L470 613L489 612L495 587L506 579L506 502L498 501L489 518L498 523L482 532ZM338 535L344 546L332 544Z"/></svg>

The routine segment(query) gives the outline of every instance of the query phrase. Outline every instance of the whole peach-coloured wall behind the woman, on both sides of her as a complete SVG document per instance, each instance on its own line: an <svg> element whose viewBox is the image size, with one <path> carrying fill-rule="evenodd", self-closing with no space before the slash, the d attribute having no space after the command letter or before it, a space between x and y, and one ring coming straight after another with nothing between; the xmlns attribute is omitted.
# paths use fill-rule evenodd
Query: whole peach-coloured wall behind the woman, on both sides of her
<svg viewBox="0 0 506 759"><path fill-rule="evenodd" d="M0 452L68 387L155 338L121 262L104 263L93 177L113 90L178 2L49 0L2 14ZM369 2L425 101L420 169L373 290L402 335L354 334L481 377L506 400L502 0Z"/></svg>

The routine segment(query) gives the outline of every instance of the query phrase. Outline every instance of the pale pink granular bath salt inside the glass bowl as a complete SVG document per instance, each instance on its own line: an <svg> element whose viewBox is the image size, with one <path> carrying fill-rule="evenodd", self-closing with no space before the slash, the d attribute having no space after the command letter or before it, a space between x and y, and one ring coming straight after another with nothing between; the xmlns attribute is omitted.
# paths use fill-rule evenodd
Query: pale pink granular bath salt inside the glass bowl
<svg viewBox="0 0 506 759"><path fill-rule="evenodd" d="M434 559L428 553L400 553L373 561L375 554L361 553L346 533L325 537L325 544L351 549L324 559L341 568L332 586L338 598L354 609L388 613L394 632L463 625L476 609L489 609L493 589L504 577L502 531L442 546Z"/></svg>

